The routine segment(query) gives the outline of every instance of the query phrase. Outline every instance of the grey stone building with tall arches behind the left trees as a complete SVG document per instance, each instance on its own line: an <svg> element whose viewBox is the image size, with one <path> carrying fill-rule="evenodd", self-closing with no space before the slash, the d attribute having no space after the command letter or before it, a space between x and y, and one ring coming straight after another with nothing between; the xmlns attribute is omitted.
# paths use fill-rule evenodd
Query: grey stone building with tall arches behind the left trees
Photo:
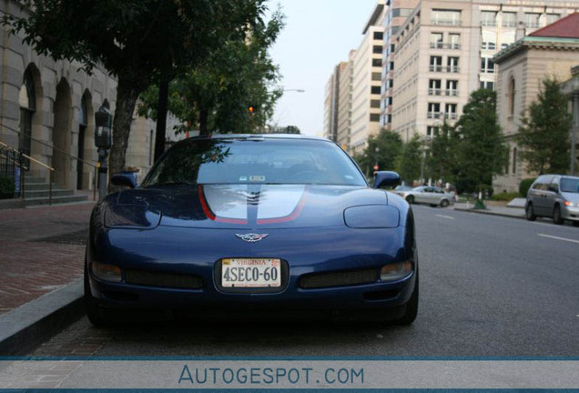
<svg viewBox="0 0 579 393"><path fill-rule="evenodd" d="M0 0L0 17L26 12L20 2ZM0 141L54 167L59 187L91 189L92 165L98 159L95 112L106 105L114 114L116 78L102 66L88 75L79 63L38 55L21 35L9 35L6 27L0 29L0 51ZM127 166L139 170L137 177L152 164L153 130L155 122L135 117ZM30 163L28 175L48 178L46 168L35 162Z"/></svg>

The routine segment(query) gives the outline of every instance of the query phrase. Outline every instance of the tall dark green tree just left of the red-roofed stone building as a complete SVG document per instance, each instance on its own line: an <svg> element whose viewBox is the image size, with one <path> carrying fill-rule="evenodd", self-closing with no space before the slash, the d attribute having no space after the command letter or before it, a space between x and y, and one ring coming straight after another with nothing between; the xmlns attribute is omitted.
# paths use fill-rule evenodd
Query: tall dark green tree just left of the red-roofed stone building
<svg viewBox="0 0 579 393"><path fill-rule="evenodd" d="M496 116L496 93L472 92L456 124L457 187L466 191L491 186L504 169L506 147Z"/></svg>

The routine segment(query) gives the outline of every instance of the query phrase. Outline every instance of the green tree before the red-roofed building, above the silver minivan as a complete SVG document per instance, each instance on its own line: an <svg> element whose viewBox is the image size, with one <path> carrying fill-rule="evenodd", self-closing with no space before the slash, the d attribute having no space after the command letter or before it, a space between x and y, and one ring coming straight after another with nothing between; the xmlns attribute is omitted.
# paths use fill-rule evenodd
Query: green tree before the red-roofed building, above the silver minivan
<svg viewBox="0 0 579 393"><path fill-rule="evenodd" d="M528 108L519 127L517 142L521 158L530 171L566 173L569 169L572 118L567 111L567 97L556 79L544 79L537 100Z"/></svg>

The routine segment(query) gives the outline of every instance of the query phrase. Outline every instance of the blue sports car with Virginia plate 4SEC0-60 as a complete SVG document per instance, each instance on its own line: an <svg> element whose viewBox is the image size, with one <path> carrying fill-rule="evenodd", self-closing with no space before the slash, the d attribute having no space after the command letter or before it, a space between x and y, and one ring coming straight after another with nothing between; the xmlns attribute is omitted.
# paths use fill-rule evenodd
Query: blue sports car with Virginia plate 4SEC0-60
<svg viewBox="0 0 579 393"><path fill-rule="evenodd" d="M86 314L127 309L393 320L418 310L411 208L340 146L308 136L194 137L93 210ZM164 311L166 312L166 311Z"/></svg>

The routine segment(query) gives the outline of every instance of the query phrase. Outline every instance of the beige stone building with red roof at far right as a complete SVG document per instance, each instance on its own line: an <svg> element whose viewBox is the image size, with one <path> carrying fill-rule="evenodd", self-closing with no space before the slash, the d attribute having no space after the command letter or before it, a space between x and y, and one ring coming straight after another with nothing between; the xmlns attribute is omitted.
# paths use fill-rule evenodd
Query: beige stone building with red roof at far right
<svg viewBox="0 0 579 393"><path fill-rule="evenodd" d="M522 37L495 55L493 61L499 68L499 123L509 146L505 174L493 180L493 188L495 192L515 192L523 178L536 176L526 170L514 141L523 111L537 99L544 78L567 81L572 77L572 68L579 65L579 14L568 15Z"/></svg>

